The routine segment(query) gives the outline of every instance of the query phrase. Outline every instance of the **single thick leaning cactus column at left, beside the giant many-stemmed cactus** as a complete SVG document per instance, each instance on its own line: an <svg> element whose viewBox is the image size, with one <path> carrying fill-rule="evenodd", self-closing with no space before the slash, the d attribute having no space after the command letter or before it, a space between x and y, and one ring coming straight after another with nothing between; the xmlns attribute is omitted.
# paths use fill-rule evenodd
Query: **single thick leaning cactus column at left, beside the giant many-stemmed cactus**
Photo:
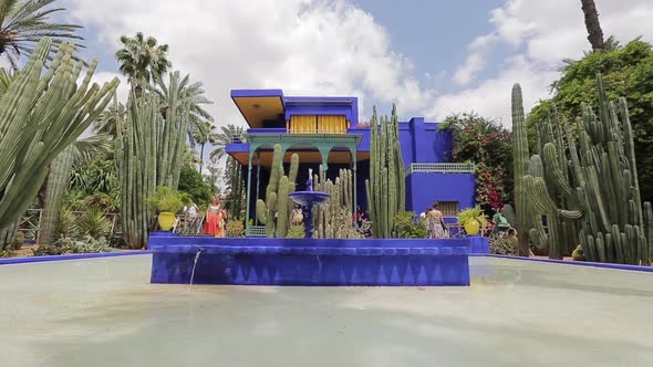
<svg viewBox="0 0 653 367"><path fill-rule="evenodd" d="M45 208L41 219L41 231L39 232L39 245L49 244L59 219L63 193L69 184L70 172L73 167L73 150L71 145L65 148L50 164L48 177L48 190L45 191Z"/></svg>

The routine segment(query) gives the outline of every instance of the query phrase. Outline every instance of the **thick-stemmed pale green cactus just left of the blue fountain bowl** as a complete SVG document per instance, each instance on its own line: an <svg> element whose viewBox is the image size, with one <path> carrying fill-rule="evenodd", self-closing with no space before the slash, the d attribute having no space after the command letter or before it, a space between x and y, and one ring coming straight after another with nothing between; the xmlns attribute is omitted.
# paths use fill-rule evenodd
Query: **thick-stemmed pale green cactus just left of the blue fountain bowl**
<svg viewBox="0 0 653 367"><path fill-rule="evenodd" d="M292 200L288 195L294 192L297 172L299 170L299 156L292 154L288 176L283 174L283 151L281 145L274 145L272 167L270 167L270 180L266 189L266 201L257 200L257 219L266 224L266 233L269 238L286 238L290 228L292 213Z"/></svg>

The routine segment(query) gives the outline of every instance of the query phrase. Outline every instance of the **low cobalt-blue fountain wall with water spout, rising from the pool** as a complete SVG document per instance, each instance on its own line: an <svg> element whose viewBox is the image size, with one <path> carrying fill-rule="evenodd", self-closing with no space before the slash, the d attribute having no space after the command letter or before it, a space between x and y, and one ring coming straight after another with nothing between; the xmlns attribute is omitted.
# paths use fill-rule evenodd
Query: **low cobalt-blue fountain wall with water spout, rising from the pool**
<svg viewBox="0 0 653 367"><path fill-rule="evenodd" d="M468 254L487 239L216 239L155 232L152 283L469 285ZM479 250L480 249L480 250Z"/></svg>

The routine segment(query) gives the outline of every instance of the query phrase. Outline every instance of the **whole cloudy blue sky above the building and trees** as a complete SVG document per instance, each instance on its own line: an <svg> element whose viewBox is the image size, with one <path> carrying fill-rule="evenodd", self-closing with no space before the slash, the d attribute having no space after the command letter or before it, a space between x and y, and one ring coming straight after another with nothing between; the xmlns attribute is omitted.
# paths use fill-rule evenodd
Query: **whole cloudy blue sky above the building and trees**
<svg viewBox="0 0 653 367"><path fill-rule="evenodd" d="M510 127L510 90L529 109L566 57L590 49L578 0L60 0L84 25L96 80L117 73L118 38L143 31L170 48L175 70L204 83L216 125L245 122L234 88L357 96L400 118L475 112ZM605 36L653 41L651 0L595 0ZM126 95L126 83L120 93Z"/></svg>

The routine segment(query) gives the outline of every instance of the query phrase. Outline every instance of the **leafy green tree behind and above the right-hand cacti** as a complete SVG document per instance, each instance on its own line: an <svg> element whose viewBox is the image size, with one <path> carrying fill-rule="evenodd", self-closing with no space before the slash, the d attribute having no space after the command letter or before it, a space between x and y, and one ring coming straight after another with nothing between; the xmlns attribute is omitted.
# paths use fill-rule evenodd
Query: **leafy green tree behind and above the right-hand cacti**
<svg viewBox="0 0 653 367"><path fill-rule="evenodd" d="M635 40L622 49L593 52L569 62L562 76L552 84L553 98L542 102L528 116L529 133L546 117L551 102L562 119L571 122L581 115L582 102L598 105L597 73L603 75L608 99L626 96L642 200L653 201L653 48L650 43Z"/></svg>

